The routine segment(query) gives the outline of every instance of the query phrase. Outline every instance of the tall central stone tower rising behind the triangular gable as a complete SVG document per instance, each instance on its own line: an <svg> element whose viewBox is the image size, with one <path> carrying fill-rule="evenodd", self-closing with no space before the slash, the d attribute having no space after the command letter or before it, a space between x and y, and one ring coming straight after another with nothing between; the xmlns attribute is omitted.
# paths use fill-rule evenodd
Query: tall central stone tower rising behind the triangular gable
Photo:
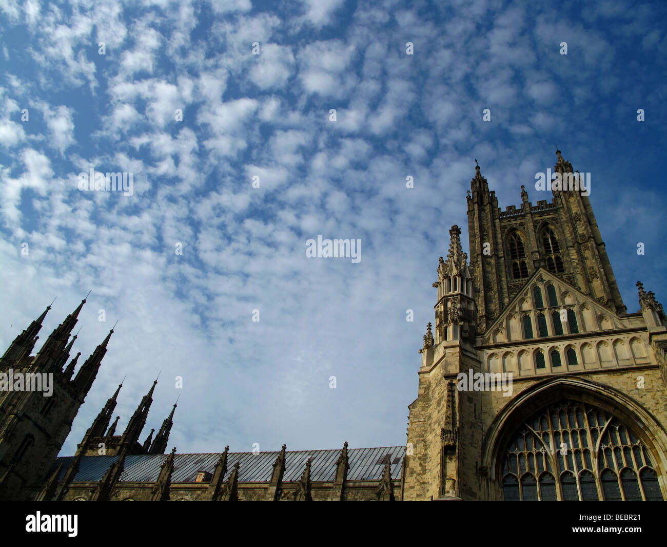
<svg viewBox="0 0 667 547"><path fill-rule="evenodd" d="M574 184L580 174L556 150L554 175ZM496 192L476 166L468 193L470 261L475 267L478 332L483 333L540 267L616 313L626 307L595 220L587 192L552 190L552 200L528 201L502 211ZM548 171L550 172L550 171ZM590 174L588 177L590 190ZM570 186L568 186L570 188Z"/></svg>

